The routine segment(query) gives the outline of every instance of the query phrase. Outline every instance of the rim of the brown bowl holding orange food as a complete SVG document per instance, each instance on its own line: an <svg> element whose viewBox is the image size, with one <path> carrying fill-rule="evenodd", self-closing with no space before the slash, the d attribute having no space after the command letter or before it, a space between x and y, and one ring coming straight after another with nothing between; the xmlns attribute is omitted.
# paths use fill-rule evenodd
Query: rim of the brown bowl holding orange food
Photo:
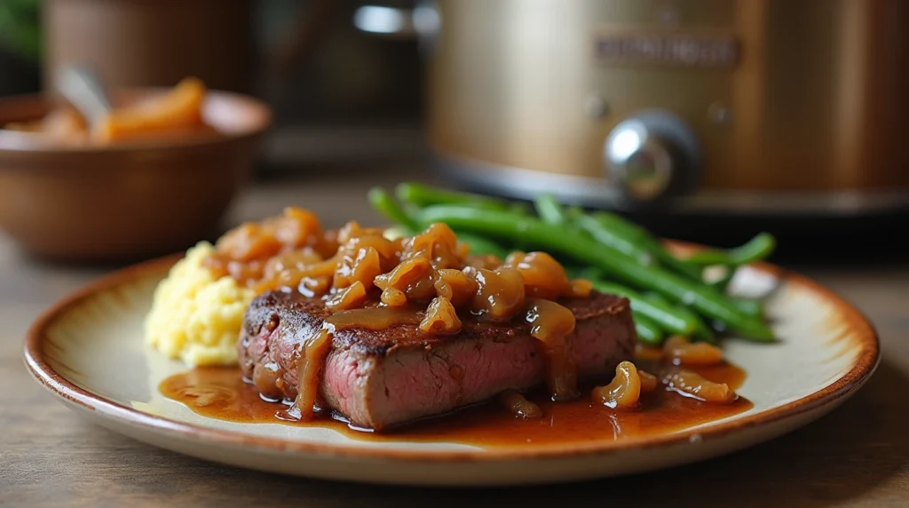
<svg viewBox="0 0 909 508"><path fill-rule="evenodd" d="M157 95L171 90L170 86L117 86L113 88L115 95ZM34 102L35 104L48 104L55 95L50 91L31 94L17 94L0 97L0 110L5 106L16 103ZM0 125L0 155L9 154L125 154L139 151L170 151L212 147L223 144L235 143L239 140L255 138L264 134L274 122L273 108L264 100L253 95L240 94L225 90L208 89L205 92L203 105L210 105L212 101L227 102L231 105L243 105L251 108L254 115L253 121L243 128L232 129L213 136L178 137L165 141L162 140L131 140L116 144L58 144L53 141L42 140L35 134L22 133L4 129Z"/></svg>

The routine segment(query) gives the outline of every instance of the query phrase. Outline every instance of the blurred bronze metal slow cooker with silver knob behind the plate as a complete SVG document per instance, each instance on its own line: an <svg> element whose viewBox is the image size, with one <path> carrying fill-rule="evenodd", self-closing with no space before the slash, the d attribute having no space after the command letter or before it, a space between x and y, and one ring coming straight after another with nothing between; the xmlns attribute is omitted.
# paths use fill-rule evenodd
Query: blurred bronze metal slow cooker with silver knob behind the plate
<svg viewBox="0 0 909 508"><path fill-rule="evenodd" d="M426 128L459 182L674 213L909 204L909 2L435 0L413 35Z"/></svg>

